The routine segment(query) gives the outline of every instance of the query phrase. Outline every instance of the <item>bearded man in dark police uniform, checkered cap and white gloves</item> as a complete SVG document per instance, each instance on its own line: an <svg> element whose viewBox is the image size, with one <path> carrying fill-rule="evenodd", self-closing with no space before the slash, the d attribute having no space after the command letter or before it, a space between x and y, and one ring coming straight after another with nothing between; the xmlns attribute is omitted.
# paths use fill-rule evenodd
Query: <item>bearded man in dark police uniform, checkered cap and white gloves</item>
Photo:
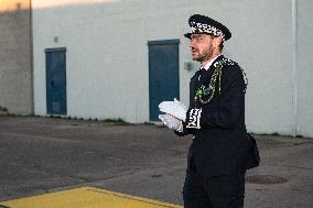
<svg viewBox="0 0 313 208"><path fill-rule="evenodd" d="M159 105L161 121L177 135L193 134L183 188L186 208L241 208L251 141L245 125L246 77L222 55L231 33L199 14L190 18L190 48L201 68L190 81L190 107Z"/></svg>

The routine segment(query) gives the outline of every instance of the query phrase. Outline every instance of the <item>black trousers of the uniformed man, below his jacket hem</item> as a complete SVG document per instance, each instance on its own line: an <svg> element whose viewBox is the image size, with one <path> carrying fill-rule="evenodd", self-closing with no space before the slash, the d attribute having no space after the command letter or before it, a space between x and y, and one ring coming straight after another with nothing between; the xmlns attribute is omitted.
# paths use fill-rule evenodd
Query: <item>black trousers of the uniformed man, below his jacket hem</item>
<svg viewBox="0 0 313 208"><path fill-rule="evenodd" d="M245 174L199 176L188 169L183 188L185 208L242 208Z"/></svg>

